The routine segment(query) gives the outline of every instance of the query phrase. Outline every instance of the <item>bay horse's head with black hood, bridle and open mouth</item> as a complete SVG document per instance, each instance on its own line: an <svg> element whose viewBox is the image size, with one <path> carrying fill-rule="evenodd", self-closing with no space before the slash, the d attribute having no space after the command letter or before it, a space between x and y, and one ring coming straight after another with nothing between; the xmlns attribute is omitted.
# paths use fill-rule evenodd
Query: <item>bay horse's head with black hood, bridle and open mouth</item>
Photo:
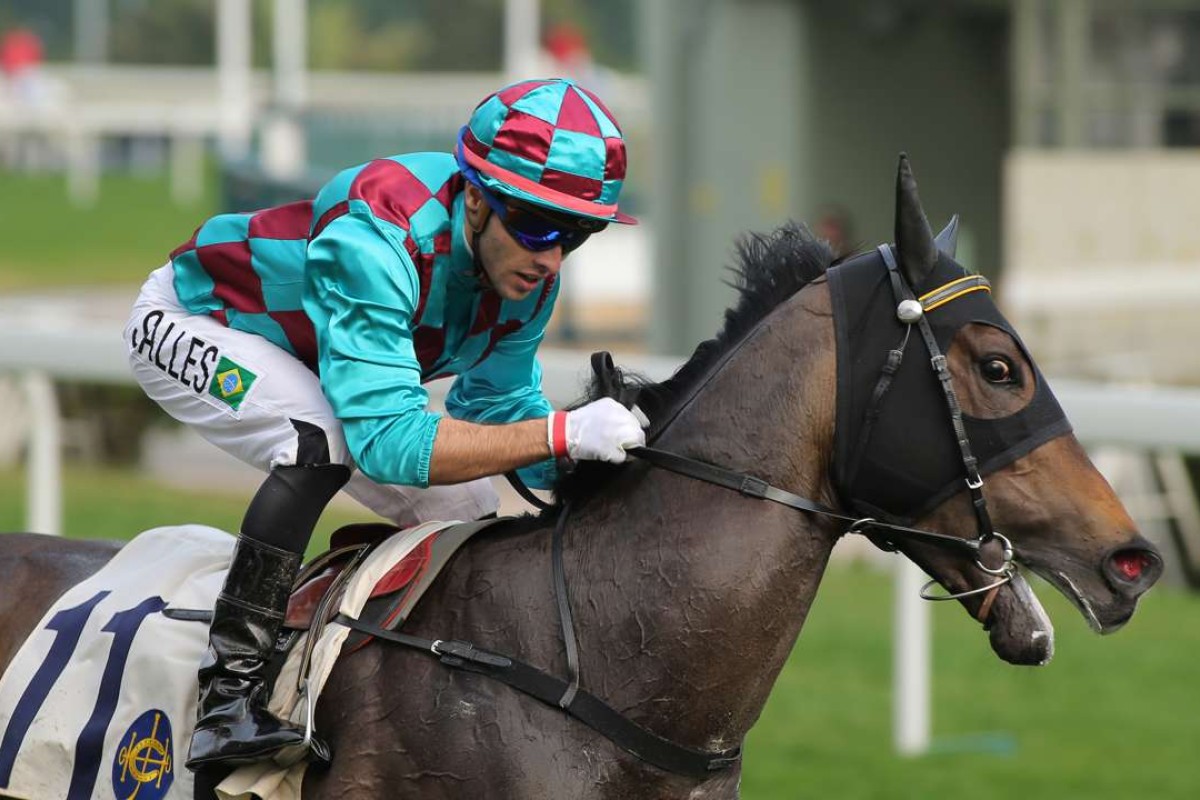
<svg viewBox="0 0 1200 800"><path fill-rule="evenodd" d="M928 363L936 351L918 353L900 367L893 398L864 403L875 380L870 373L887 357L878 345L907 336L911 325L889 318L900 299L886 284L880 290L887 270L876 261L889 252L881 248L830 271L835 295L857 299L848 314L856 321L842 318L839 337L839 381L847 387L839 393L839 487L858 513L959 535L976 527L980 537L998 531L992 553L974 563L919 539L887 541L961 596L990 631L997 655L1044 663L1052 655L1052 628L1028 584L1014 573L998 591L980 591L996 583L985 561L996 565L1000 542L1010 542L1016 561L1061 590L1102 633L1132 616L1138 597L1162 573L1162 559L1072 435L986 282L954 260L955 227L956 219L935 240L901 156L895 261L922 324L928 321L930 347L946 355L948 398L961 407L960 426L946 403L937 408L943 391ZM863 413L877 414L865 432ZM964 434L965 450L956 441ZM966 468L965 455L976 459ZM984 479L985 487L974 486Z"/></svg>

